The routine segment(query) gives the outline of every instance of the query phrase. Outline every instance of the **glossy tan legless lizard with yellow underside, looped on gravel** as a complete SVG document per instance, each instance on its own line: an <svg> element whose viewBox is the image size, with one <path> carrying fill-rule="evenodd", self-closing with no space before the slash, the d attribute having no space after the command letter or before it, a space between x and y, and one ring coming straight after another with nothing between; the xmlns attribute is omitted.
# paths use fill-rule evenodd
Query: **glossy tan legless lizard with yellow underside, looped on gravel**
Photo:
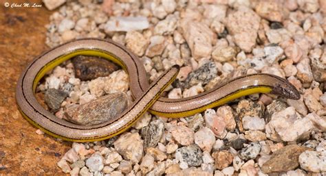
<svg viewBox="0 0 326 176"><path fill-rule="evenodd" d="M120 64L129 74L129 86L135 101L120 116L107 123L81 126L56 118L41 107L34 97L37 83L54 66L74 55L98 55ZM178 66L173 66L151 86L144 66L125 47L111 40L95 38L74 40L60 45L38 58L25 69L17 84L17 104L23 116L47 134L76 142L104 140L128 129L146 110L160 116L190 116L256 92L270 92L290 99L299 99L300 94L285 79L274 75L256 74L237 77L213 90L186 99L160 97L166 86L175 79Z"/></svg>

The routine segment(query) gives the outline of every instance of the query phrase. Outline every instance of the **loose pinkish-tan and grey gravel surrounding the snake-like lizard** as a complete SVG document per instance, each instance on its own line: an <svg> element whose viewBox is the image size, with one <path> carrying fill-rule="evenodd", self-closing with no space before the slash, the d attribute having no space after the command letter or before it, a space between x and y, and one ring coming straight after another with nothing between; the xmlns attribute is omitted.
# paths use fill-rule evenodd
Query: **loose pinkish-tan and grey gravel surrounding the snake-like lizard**
<svg viewBox="0 0 326 176"><path fill-rule="evenodd" d="M138 55L150 81L178 64L180 84L169 88L171 99L250 73L283 77L301 92L299 100L250 95L186 118L146 113L115 138L73 143L58 162L63 172L326 175L326 1L62 3L47 25L48 46L76 38L111 38ZM74 69L71 61L57 66L38 88L47 97L62 95L52 108L59 118L71 105L114 92L124 92L124 101L132 101L124 71L82 81Z"/></svg>

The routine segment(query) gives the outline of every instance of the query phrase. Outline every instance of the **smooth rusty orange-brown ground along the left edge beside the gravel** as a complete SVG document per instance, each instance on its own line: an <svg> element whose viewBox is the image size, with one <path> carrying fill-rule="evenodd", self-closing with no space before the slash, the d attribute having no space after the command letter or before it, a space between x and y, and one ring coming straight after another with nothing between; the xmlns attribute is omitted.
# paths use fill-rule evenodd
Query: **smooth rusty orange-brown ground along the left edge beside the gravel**
<svg viewBox="0 0 326 176"><path fill-rule="evenodd" d="M56 162L71 145L38 135L17 110L14 99L17 79L34 57L48 48L45 25L52 14L42 8L6 8L0 1L0 175L65 175Z"/></svg>

